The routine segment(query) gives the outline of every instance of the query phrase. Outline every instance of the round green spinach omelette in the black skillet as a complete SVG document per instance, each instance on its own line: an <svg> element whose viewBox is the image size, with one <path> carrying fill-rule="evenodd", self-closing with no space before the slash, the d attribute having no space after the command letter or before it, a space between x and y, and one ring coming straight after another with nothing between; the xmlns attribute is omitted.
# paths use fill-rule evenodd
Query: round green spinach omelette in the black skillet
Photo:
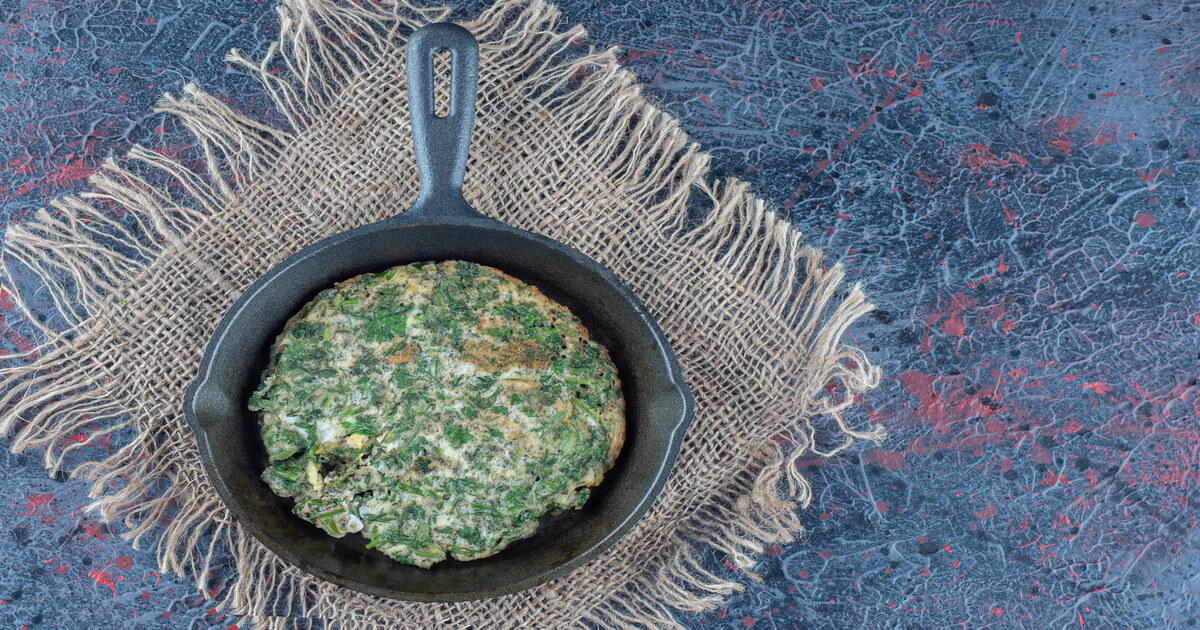
<svg viewBox="0 0 1200 630"><path fill-rule="evenodd" d="M460 260L318 294L250 408L263 480L296 515L418 566L492 556L583 505L625 436L617 370L580 320Z"/></svg>

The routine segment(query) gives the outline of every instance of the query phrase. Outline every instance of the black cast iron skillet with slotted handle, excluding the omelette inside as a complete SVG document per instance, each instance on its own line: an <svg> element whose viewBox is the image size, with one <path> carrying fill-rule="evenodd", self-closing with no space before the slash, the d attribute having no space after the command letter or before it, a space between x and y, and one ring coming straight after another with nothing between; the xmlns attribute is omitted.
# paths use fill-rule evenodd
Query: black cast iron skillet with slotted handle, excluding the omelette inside
<svg viewBox="0 0 1200 630"><path fill-rule="evenodd" d="M452 58L450 113L433 113L433 53ZM330 236L258 278L217 325L188 386L184 414L209 480L251 534L295 566L395 599L457 601L529 588L588 562L624 535L662 490L695 403L679 364L646 307L617 276L565 245L472 209L462 181L475 121L479 44L442 23L408 42L408 90L420 194L408 211ZM335 282L395 265L462 259L496 266L565 305L617 365L626 404L625 445L580 510L545 517L538 533L491 558L432 569L396 563L366 539L331 538L292 514L292 499L259 479L266 454L246 402L283 324Z"/></svg>

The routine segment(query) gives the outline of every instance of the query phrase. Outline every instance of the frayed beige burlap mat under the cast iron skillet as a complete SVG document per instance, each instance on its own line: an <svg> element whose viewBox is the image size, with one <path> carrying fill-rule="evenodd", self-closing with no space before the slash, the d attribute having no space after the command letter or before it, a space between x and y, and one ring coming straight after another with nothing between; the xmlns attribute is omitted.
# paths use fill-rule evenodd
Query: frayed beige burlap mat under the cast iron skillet
<svg viewBox="0 0 1200 630"><path fill-rule="evenodd" d="M199 169L136 146L92 178L95 192L8 229L6 259L42 276L70 325L37 324L17 300L46 341L2 374L0 432L13 448L44 448L54 469L80 445L62 438L86 424L101 426L94 440L131 433L108 460L74 470L92 482L92 510L122 521L136 542L157 544L161 569L202 590L214 557L230 553L221 604L259 628L314 618L350 629L671 628L673 608L709 608L742 588L697 560L702 546L749 572L764 544L796 540L793 499L806 505L809 487L794 458L882 438L841 418L878 382L862 350L841 343L870 305L746 185L706 181L708 156L647 104L613 50L578 47L583 29L558 29L554 7L516 1L466 24L481 42L467 198L592 256L650 308L698 403L670 482L632 532L582 569L466 604L349 592L239 528L202 470L180 414L184 389L251 281L413 200L403 43L446 13L288 0L280 14L266 59L230 60L259 79L284 125L190 85L160 107L198 138ZM698 224L686 221L689 204L704 211ZM833 436L826 450L812 422L821 416Z"/></svg>

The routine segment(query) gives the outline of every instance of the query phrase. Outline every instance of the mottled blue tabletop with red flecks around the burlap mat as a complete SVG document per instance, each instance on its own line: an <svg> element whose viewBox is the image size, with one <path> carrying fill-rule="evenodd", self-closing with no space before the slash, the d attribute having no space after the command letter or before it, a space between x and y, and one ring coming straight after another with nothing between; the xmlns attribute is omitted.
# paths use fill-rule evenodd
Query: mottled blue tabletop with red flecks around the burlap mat
<svg viewBox="0 0 1200 630"><path fill-rule="evenodd" d="M889 439L802 462L806 534L689 626L1196 625L1200 5L562 8L878 305L851 335L887 378L853 420ZM133 142L188 151L150 113L184 82L262 109L222 56L276 24L268 0L0 1L0 218ZM36 341L11 308L10 352ZM41 454L0 470L0 628L234 623Z"/></svg>

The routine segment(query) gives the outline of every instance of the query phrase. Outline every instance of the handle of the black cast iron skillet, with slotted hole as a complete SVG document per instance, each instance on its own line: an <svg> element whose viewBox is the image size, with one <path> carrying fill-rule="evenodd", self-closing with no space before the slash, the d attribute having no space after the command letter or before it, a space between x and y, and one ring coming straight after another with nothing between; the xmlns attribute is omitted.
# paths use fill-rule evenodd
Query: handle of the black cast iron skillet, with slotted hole
<svg viewBox="0 0 1200 630"><path fill-rule="evenodd" d="M433 54L449 50L450 113L433 110ZM475 89L479 85L479 42L467 29L449 22L416 30L404 47L408 108L421 190L414 210L457 210L467 206L462 180L467 170L470 134L475 127Z"/></svg>

